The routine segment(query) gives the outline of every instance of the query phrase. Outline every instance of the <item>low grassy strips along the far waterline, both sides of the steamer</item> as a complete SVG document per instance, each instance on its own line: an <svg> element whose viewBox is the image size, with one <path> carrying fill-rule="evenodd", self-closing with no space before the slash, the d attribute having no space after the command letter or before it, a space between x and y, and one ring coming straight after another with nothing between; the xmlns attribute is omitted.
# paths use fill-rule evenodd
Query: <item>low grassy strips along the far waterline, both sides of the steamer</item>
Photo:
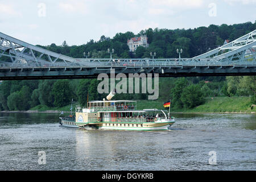
<svg viewBox="0 0 256 182"><path fill-rule="evenodd" d="M164 101L138 100L137 109L162 109ZM78 103L73 103L72 112ZM64 107L47 107L38 105L27 111L0 111L1 113L70 113L70 105ZM172 114L256 114L256 106L250 104L250 97L212 97L205 98L205 103L192 109L174 109Z"/></svg>

